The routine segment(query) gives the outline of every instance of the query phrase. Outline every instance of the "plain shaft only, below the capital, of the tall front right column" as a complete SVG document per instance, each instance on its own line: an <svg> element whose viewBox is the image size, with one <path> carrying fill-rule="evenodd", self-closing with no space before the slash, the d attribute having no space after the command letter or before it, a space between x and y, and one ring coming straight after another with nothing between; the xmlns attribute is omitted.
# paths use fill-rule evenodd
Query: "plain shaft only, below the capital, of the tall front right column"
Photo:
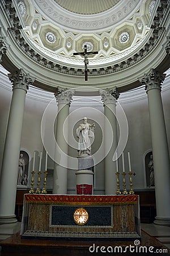
<svg viewBox="0 0 170 256"><path fill-rule="evenodd" d="M149 90L147 95L154 159L156 217L170 218L170 204L167 204L170 198L170 164L162 98L159 89Z"/></svg>

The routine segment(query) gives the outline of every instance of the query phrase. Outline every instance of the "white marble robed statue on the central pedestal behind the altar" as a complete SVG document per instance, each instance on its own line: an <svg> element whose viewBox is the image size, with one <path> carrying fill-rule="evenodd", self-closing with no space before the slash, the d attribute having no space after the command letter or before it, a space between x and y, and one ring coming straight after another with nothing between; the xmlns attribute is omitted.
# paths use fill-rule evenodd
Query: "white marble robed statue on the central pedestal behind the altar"
<svg viewBox="0 0 170 256"><path fill-rule="evenodd" d="M88 123L87 117L83 118L83 123L80 123L76 129L76 136L78 141L78 155L91 155L91 142L90 138L94 138L94 132L91 129L95 129L95 123Z"/></svg>

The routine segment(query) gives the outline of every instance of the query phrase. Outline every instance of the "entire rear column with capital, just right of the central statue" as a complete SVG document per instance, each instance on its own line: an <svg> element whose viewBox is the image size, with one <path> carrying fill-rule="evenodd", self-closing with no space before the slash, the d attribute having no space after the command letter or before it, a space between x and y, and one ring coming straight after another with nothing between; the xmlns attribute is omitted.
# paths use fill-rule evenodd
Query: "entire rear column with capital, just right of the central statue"
<svg viewBox="0 0 170 256"><path fill-rule="evenodd" d="M116 119L116 100L118 99L117 89L101 91L101 100L104 105L104 145L105 145L105 194L114 195L116 192L116 162L113 162L113 155L117 148L117 119ZM109 130L113 131L113 134L109 133ZM109 150L108 145L113 143Z"/></svg>

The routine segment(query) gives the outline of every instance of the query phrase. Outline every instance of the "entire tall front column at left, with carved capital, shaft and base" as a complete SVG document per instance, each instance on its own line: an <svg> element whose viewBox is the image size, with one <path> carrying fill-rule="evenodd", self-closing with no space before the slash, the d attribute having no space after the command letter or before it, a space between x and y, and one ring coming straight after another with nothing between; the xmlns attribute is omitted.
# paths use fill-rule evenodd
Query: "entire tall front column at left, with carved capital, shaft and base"
<svg viewBox="0 0 170 256"><path fill-rule="evenodd" d="M8 118L5 148L0 183L0 222L16 222L15 197L18 180L20 139L22 135L25 94L33 80L20 69L15 75L8 75L12 86L12 100Z"/></svg>

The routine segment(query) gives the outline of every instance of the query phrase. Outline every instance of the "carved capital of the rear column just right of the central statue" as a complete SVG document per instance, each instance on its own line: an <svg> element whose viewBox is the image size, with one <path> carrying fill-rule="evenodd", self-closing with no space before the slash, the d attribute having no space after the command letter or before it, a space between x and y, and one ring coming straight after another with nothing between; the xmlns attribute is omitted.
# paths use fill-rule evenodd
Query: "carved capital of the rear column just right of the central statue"
<svg viewBox="0 0 170 256"><path fill-rule="evenodd" d="M117 88L109 90L108 88L104 90L100 90L100 96L101 96L101 101L103 101L103 105L108 105L108 104L114 104L116 105L116 100L119 97L119 93Z"/></svg>

